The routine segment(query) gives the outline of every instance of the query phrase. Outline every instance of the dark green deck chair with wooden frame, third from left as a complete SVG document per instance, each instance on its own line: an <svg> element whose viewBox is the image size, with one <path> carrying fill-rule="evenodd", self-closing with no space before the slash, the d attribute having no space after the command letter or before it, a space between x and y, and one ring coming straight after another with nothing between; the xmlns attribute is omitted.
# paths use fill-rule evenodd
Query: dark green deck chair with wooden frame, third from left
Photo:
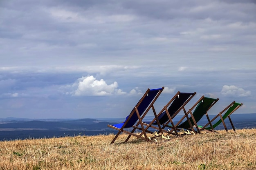
<svg viewBox="0 0 256 170"><path fill-rule="evenodd" d="M207 111L214 105L216 104L216 102L219 99L213 99L213 98L209 98L209 97L204 97L202 96L198 102L196 102L190 109L188 112L186 112L185 108L183 108L184 110L184 116L180 119L180 121L178 121L178 123L174 126L174 128L176 128L176 130L182 130L182 129L186 129L186 130L192 130L194 133L195 132L200 132L200 129L197 125L198 121L200 121L200 119L207 114ZM195 109L194 109L195 108ZM193 113L192 110L194 109ZM189 114L191 115L189 117ZM186 118L186 121L182 122L184 119ZM195 129L193 128L193 126L195 126L195 128L197 129L197 131L195 131ZM168 124L165 124L163 128L165 127L169 127L173 129L173 126L170 126Z"/></svg>

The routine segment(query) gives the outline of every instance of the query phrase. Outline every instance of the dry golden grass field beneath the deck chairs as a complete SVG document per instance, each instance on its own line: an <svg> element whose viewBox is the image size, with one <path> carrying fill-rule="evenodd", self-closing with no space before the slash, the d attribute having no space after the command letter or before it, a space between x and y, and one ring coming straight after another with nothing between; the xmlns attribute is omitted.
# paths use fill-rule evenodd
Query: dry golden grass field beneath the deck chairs
<svg viewBox="0 0 256 170"><path fill-rule="evenodd" d="M0 141L0 170L253 170L256 129L186 135L157 143L127 135Z"/></svg>

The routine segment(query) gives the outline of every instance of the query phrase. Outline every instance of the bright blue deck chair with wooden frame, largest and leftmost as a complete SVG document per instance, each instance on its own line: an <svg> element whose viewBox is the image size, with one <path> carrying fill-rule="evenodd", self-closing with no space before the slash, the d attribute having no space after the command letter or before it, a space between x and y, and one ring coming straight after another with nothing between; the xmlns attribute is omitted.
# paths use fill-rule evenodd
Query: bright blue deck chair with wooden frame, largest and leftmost
<svg viewBox="0 0 256 170"><path fill-rule="evenodd" d="M157 97L162 93L163 90L164 90L164 87L156 88L156 89L148 89L146 91L146 93L143 95L143 97L141 97L139 102L136 104L136 106L132 109L130 115L128 115L126 117L126 120L123 123L108 125L108 127L114 128L114 129L118 130L117 135L114 137L114 139L112 140L112 142L110 144L114 143L114 141L117 139L117 137L119 136L119 134L121 132L129 134L129 136L131 136L131 135L136 136L136 137L144 139L146 141L150 140L150 139L147 138L146 131L144 130L143 126L142 126L141 130L144 133L144 137L141 137L141 136L133 133L134 131L129 132L129 131L124 130L124 129L125 128L131 128L132 126L134 126L134 124L137 121L139 121L137 123L137 125L138 124L142 125L142 121L141 120L145 117L146 113L148 113L150 108L152 108L153 112L155 112L153 104L155 103ZM128 139L126 139L125 142L127 142Z"/></svg>

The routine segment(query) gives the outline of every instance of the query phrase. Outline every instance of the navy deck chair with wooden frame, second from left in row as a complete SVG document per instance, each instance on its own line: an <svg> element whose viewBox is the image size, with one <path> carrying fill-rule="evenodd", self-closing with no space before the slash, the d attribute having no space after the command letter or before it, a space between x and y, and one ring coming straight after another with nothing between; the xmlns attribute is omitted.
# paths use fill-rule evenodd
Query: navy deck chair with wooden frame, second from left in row
<svg viewBox="0 0 256 170"><path fill-rule="evenodd" d="M176 135L178 135L173 123L173 118L180 112L180 110L182 110L182 108L184 108L184 106L192 99L192 97L195 96L195 94L196 92L181 93L178 91L164 106L164 108L157 115L155 115L155 118L152 121L143 121L143 124L147 126L145 130L148 130L148 128L154 128L158 130L158 133L163 134L163 131L165 130L161 127L161 125L171 123L174 127L173 130L175 131ZM153 125L157 125L157 127Z"/></svg>

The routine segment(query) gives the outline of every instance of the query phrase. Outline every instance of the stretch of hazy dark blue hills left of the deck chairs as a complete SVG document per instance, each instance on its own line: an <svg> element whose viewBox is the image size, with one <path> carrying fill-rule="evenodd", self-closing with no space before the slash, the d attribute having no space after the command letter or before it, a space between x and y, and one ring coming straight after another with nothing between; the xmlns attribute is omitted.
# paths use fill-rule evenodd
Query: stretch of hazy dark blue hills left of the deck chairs
<svg viewBox="0 0 256 170"><path fill-rule="evenodd" d="M43 137L110 134L109 122L97 119L30 120L5 119L0 124L0 141Z"/></svg>

